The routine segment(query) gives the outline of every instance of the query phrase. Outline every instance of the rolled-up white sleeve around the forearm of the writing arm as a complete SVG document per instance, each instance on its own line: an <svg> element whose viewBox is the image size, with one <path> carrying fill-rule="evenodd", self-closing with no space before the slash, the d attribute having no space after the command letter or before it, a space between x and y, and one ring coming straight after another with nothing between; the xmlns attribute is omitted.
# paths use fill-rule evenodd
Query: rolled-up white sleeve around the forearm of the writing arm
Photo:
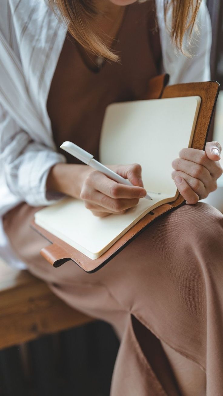
<svg viewBox="0 0 223 396"><path fill-rule="evenodd" d="M0 163L4 180L15 196L30 206L50 205L63 195L46 192L51 167L65 156L33 141L0 105Z"/></svg>

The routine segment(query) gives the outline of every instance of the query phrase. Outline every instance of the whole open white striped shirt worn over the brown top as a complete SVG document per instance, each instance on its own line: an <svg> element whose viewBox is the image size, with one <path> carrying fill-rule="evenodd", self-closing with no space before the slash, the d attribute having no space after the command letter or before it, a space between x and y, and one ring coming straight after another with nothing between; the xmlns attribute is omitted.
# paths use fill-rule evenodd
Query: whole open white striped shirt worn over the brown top
<svg viewBox="0 0 223 396"><path fill-rule="evenodd" d="M177 55L164 23L163 0L156 0L163 69L170 84L210 80L211 23L204 1L194 29L193 57ZM170 18L170 15L169 15ZM65 157L56 151L46 109L51 80L67 34L47 0L1 0L0 12L0 256L15 257L1 216L19 204L50 205L48 172ZM186 42L186 38L185 38Z"/></svg>

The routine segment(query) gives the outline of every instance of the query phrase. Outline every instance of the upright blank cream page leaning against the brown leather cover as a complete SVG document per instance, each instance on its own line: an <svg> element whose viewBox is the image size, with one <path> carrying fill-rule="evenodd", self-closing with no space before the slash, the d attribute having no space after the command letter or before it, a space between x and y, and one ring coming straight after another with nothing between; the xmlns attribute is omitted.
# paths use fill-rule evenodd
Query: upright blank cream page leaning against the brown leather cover
<svg viewBox="0 0 223 396"><path fill-rule="evenodd" d="M103 122L100 161L136 162L148 192L174 196L171 164L181 148L191 147L200 103L199 96L112 103Z"/></svg>

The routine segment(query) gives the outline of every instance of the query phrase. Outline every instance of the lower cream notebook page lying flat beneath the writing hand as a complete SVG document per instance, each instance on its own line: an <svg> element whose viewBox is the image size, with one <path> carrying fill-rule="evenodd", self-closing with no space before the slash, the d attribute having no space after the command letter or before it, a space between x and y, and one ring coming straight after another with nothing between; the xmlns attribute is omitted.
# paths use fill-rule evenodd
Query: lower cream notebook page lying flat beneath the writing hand
<svg viewBox="0 0 223 396"><path fill-rule="evenodd" d="M36 212L35 223L94 260L146 213L156 208L160 199L166 202L166 196L152 195L152 198L152 201L142 198L124 215L102 218L86 209L84 201L67 198Z"/></svg>

